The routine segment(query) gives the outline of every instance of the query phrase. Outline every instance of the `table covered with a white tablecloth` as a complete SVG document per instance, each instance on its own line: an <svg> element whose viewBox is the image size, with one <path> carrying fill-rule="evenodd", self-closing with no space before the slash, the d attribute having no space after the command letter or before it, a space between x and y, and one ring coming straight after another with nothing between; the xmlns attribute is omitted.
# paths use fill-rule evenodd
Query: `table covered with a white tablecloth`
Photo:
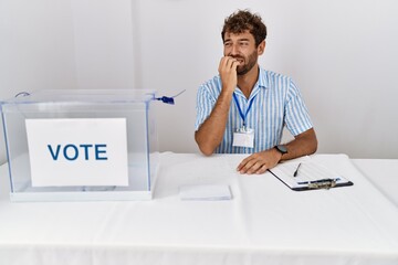
<svg viewBox="0 0 398 265"><path fill-rule="evenodd" d="M398 264L397 197L380 183L397 160L355 160L364 177L343 155L316 155L354 186L295 192L237 173L243 157L163 153L155 199L127 202L11 203L2 166L0 264ZM233 200L179 199L206 183Z"/></svg>

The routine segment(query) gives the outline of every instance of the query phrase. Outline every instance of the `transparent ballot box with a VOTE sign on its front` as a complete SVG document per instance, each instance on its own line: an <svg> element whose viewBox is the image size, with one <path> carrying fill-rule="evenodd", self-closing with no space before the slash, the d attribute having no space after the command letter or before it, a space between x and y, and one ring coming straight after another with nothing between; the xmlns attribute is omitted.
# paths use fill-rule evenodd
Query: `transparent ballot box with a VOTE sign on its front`
<svg viewBox="0 0 398 265"><path fill-rule="evenodd" d="M38 91L1 102L12 201L150 200L155 91Z"/></svg>

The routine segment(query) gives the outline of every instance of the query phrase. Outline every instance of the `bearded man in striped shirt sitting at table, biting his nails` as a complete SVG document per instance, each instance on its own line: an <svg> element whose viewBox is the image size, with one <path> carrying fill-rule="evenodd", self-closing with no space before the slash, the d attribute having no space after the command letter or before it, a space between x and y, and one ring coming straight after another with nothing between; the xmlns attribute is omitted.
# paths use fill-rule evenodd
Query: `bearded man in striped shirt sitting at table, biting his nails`
<svg viewBox="0 0 398 265"><path fill-rule="evenodd" d="M266 36L261 18L247 10L232 13L221 36L219 75L198 89L195 139L201 152L252 153L237 168L249 174L315 152L315 130L297 87L258 64ZM284 126L294 140L280 145Z"/></svg>

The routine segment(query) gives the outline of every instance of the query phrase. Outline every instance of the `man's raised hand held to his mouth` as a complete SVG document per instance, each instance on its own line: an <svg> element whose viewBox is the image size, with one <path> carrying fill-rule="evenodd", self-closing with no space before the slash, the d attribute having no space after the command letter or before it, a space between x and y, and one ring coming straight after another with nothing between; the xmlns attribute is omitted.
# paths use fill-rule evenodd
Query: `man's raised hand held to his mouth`
<svg viewBox="0 0 398 265"><path fill-rule="evenodd" d="M223 56L220 61L219 73L222 82L222 91L233 93L238 85L237 67L239 61L231 56Z"/></svg>

